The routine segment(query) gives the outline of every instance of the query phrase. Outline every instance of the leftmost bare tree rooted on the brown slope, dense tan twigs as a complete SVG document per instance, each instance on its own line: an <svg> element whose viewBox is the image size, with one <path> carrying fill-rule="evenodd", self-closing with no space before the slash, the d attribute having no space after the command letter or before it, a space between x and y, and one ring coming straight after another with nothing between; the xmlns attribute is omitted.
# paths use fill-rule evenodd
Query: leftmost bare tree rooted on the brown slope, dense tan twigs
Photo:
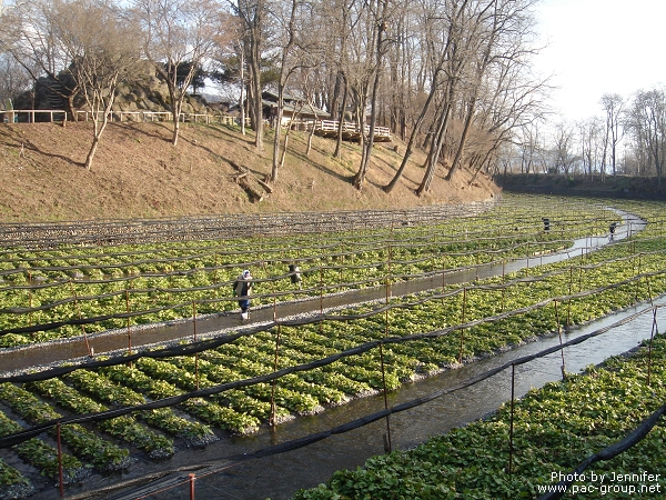
<svg viewBox="0 0 666 500"><path fill-rule="evenodd" d="M115 89L139 61L138 31L112 0L59 2L53 21L63 49L73 61L72 76L93 117L93 139L85 158L85 169L90 170Z"/></svg>

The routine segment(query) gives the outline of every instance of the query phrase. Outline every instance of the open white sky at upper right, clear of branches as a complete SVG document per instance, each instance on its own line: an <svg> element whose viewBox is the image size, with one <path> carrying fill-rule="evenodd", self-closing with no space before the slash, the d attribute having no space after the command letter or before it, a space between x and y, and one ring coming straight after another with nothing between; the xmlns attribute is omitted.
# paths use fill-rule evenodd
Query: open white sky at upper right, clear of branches
<svg viewBox="0 0 666 500"><path fill-rule="evenodd" d="M541 0L535 59L553 74L553 108L567 121L603 114L604 93L629 98L666 84L666 0Z"/></svg>

